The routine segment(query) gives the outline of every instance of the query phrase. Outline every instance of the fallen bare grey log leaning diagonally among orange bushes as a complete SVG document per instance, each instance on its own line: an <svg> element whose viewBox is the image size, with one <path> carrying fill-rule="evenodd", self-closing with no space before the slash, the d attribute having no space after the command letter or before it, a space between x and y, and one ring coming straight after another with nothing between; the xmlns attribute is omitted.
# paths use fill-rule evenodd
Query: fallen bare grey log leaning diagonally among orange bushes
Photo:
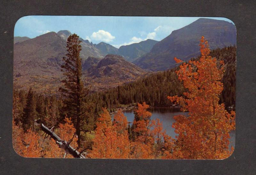
<svg viewBox="0 0 256 175"><path fill-rule="evenodd" d="M35 120L35 123L36 123L36 125L40 125L41 126L41 130L44 131L45 134L50 136L50 138L52 138L56 142L56 144L59 146L59 148L65 150L64 157L66 156L66 154L69 153L69 154L71 154L75 158L86 158L85 156L82 155L83 152L80 153L76 149L74 149L73 147L70 146L70 143L72 142L74 136L69 141L61 140L60 137L56 133L54 133L48 127L44 126L44 124L37 123L36 120Z"/></svg>

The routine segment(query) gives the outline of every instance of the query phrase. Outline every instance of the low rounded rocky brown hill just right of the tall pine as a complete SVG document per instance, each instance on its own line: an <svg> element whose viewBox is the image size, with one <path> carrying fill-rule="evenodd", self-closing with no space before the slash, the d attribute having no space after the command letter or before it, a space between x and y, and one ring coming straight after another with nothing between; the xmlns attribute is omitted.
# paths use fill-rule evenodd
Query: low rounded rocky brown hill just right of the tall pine
<svg viewBox="0 0 256 175"><path fill-rule="evenodd" d="M146 73L140 67L126 61L124 57L111 54L84 72L85 80L92 86L93 91L132 82Z"/></svg>

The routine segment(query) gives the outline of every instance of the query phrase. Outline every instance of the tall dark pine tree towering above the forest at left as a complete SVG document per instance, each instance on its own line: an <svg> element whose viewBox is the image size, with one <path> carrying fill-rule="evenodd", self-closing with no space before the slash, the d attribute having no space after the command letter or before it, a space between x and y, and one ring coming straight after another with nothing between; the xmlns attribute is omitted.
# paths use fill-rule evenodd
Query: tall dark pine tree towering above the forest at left
<svg viewBox="0 0 256 175"><path fill-rule="evenodd" d="M81 41L76 34L70 35L67 40L66 57L63 57L64 65L61 66L63 74L66 76L61 82L64 88L59 88L65 98L65 111L72 118L76 126L78 145L80 146L80 125L84 114L84 98L88 94L88 89L84 87L82 80L82 59L80 57Z"/></svg>

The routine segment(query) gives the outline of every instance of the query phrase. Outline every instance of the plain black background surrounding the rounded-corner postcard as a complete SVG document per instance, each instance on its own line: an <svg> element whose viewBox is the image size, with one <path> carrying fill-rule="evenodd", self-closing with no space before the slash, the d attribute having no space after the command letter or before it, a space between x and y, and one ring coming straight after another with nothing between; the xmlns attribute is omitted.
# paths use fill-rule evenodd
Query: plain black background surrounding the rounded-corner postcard
<svg viewBox="0 0 256 175"><path fill-rule="evenodd" d="M1 1L0 174L256 174L254 1ZM13 30L27 15L226 17L237 29L236 146L224 160L24 158L12 148Z"/></svg>

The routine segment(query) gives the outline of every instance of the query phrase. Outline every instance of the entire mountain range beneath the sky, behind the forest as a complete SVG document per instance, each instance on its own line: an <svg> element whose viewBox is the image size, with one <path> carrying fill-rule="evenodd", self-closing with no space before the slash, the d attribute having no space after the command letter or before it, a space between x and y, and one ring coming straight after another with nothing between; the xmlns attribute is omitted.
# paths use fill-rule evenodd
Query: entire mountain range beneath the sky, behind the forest
<svg viewBox="0 0 256 175"><path fill-rule="evenodd" d="M69 35L70 31L61 30L32 39L14 37L14 85L56 91L63 77L60 65L67 53ZM150 71L166 70L175 66L173 57L188 60L198 56L202 35L209 41L210 49L236 44L235 25L203 18L173 31L162 41L148 39L119 49L105 42L93 44L80 38L84 78L96 91L134 81Z"/></svg>

